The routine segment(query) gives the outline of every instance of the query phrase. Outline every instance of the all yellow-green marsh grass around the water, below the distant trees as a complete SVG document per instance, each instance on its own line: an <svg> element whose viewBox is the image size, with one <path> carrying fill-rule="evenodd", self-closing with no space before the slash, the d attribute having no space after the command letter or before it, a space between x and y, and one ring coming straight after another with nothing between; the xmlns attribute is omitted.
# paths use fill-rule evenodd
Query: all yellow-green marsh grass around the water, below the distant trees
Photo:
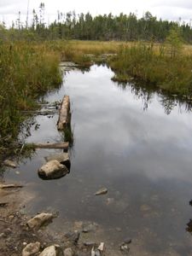
<svg viewBox="0 0 192 256"><path fill-rule="evenodd" d="M102 55L111 55L103 58ZM114 55L115 54L115 55ZM107 63L114 80L141 79L162 90L192 96L192 47L172 57L169 44L56 40L0 42L0 149L4 138L19 134L27 110L38 108L38 98L61 84L60 61L82 67ZM24 110L24 111L23 111ZM73 131L66 132L73 144ZM11 139L9 140L10 144ZM3 151L2 150L2 151Z"/></svg>

